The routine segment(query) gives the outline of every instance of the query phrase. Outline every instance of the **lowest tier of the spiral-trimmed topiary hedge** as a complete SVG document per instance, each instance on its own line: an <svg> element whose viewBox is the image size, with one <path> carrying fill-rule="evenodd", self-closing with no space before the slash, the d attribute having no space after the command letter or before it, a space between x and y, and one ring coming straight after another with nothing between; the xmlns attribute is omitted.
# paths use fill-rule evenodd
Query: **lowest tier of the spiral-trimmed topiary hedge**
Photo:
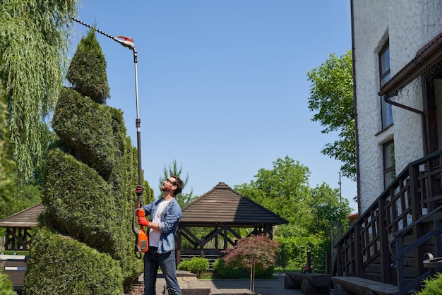
<svg viewBox="0 0 442 295"><path fill-rule="evenodd" d="M119 262L71 237L35 231L23 294L121 295Z"/></svg>

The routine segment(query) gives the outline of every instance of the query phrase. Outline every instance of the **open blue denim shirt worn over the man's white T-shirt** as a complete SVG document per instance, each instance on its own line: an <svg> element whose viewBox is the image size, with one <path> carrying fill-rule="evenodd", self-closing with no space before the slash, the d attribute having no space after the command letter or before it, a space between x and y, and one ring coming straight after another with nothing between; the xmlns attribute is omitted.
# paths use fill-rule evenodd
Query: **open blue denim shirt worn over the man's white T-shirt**
<svg viewBox="0 0 442 295"><path fill-rule="evenodd" d="M148 205L144 205L145 216L150 215L150 221L155 216L155 211L158 205L162 203L164 199L155 200ZM183 216L181 207L175 198L169 201L169 205L165 207L162 212L162 222L160 222L160 243L158 244L158 253L167 253L175 249L175 233L178 229L179 219Z"/></svg>

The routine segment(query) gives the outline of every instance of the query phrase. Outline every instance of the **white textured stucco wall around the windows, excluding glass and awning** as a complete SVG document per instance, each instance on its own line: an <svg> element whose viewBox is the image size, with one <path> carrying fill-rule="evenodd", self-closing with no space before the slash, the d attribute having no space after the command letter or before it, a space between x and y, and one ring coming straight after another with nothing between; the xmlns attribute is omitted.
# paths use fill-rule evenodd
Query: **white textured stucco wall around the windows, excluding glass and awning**
<svg viewBox="0 0 442 295"><path fill-rule="evenodd" d="M378 54L390 44L394 76L416 52L442 31L440 0L353 0L354 59L359 142L359 192L364 212L383 192L382 145L393 139L397 174L423 157L422 119L393 106L393 126L381 130L378 96ZM420 79L393 97L400 104L422 110Z"/></svg>

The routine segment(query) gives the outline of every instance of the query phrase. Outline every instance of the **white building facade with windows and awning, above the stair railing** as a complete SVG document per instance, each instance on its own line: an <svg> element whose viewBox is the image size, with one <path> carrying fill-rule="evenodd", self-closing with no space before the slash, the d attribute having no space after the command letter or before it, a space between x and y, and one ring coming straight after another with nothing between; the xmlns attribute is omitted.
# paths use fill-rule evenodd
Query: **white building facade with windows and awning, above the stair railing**
<svg viewBox="0 0 442 295"><path fill-rule="evenodd" d="M442 1L350 3L362 213L407 165L442 147Z"/></svg>

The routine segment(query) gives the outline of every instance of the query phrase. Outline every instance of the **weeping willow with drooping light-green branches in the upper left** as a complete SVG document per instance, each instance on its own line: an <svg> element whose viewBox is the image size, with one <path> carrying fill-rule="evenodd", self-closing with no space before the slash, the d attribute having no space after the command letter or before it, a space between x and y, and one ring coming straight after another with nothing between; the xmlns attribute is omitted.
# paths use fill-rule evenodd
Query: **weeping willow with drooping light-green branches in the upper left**
<svg viewBox="0 0 442 295"><path fill-rule="evenodd" d="M68 65L70 16L78 0L1 0L0 79L13 159L21 181L42 157L40 138Z"/></svg>

